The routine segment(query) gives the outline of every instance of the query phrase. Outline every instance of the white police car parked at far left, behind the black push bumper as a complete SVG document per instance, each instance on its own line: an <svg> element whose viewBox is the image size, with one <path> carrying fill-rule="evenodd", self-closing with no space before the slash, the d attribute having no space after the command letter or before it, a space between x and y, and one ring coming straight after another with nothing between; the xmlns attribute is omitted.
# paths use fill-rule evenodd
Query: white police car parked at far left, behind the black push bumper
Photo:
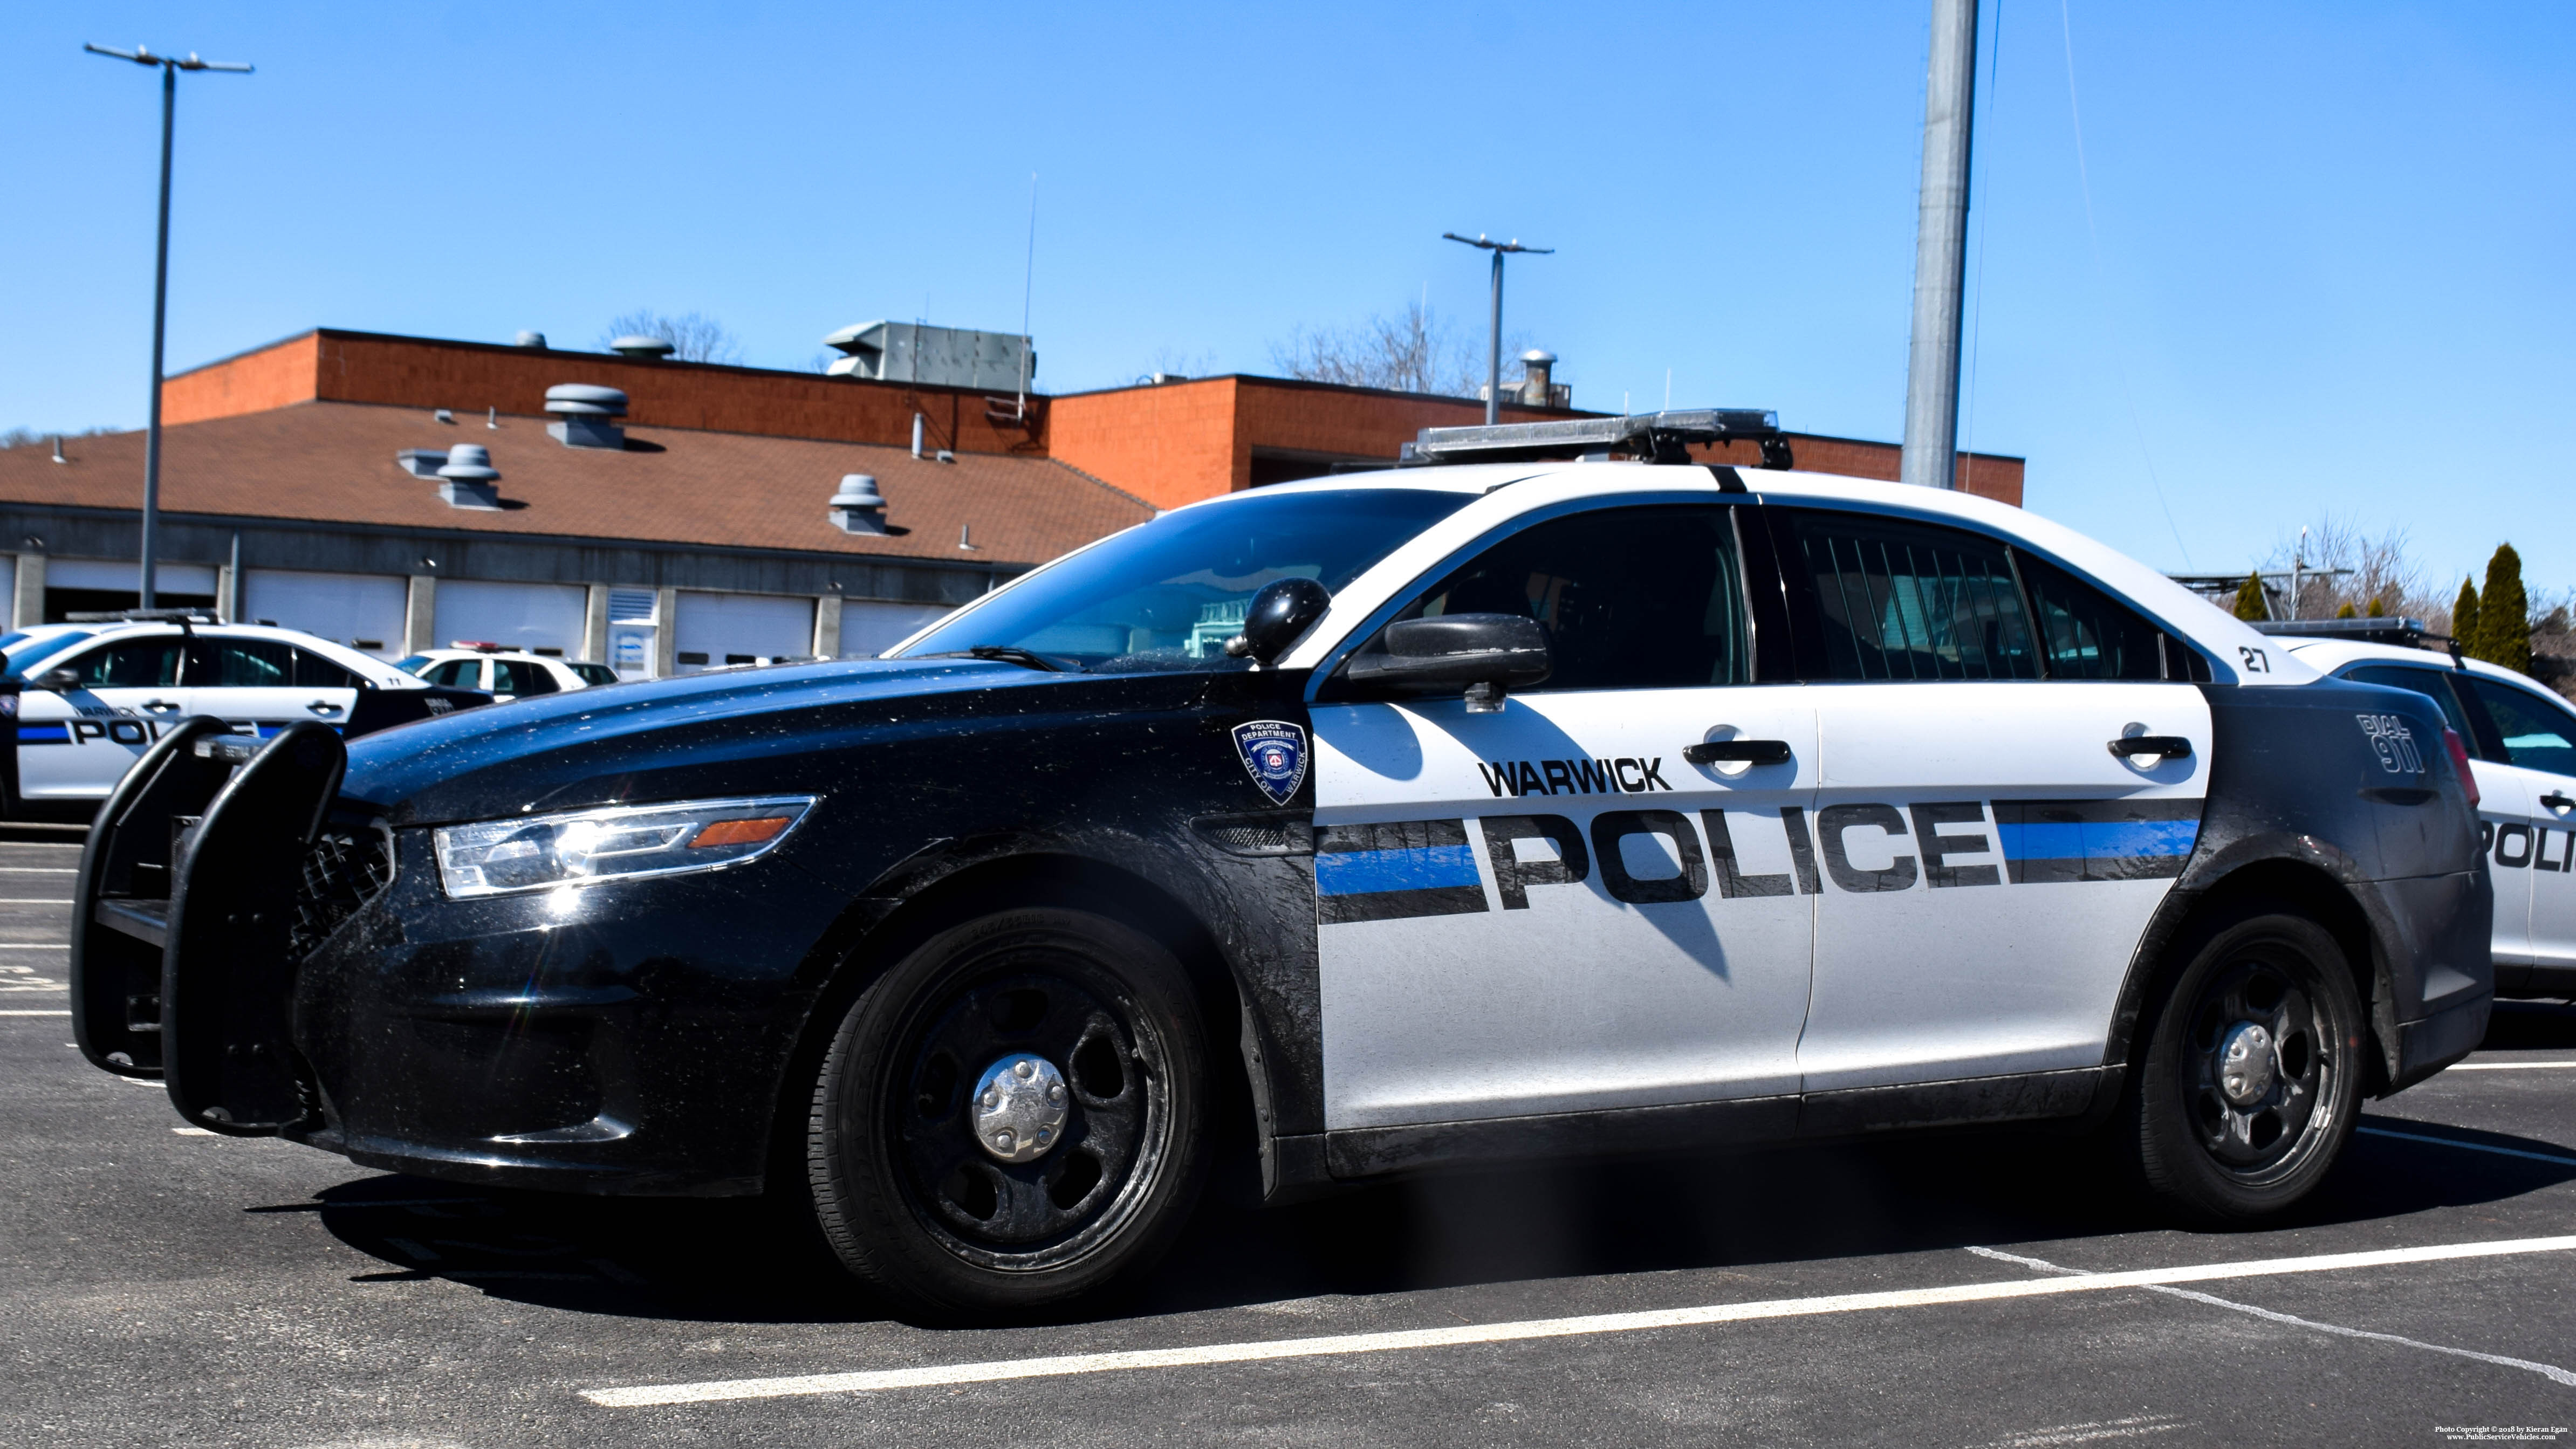
<svg viewBox="0 0 2576 1449"><path fill-rule="evenodd" d="M214 623L191 610L131 610L0 633L0 703L15 749L0 803L10 816L88 821L144 749L188 715L273 736L294 721L366 734L484 703L345 643L294 628ZM361 697L376 690L399 697Z"/></svg>

